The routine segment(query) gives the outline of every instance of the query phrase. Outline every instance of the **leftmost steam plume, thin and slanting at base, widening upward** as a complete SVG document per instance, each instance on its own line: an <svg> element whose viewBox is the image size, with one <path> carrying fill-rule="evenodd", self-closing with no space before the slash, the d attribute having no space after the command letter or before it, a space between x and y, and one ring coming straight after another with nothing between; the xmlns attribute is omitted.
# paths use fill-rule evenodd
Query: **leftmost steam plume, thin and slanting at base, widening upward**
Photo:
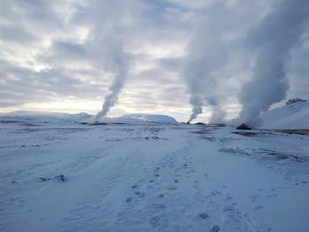
<svg viewBox="0 0 309 232"><path fill-rule="evenodd" d="M92 117L99 120L117 103L132 67L132 53L126 51L134 26L136 1L101 0L91 4L89 13L95 25L88 36L87 52L98 70L109 73L112 82L105 95L102 109ZM94 19L93 19L94 18Z"/></svg>

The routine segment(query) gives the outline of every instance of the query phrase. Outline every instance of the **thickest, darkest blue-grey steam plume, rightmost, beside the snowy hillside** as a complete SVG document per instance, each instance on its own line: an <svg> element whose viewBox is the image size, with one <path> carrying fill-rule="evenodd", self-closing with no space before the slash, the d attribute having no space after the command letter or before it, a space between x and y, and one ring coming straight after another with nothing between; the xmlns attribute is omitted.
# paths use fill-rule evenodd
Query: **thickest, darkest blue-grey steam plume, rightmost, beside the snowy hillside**
<svg viewBox="0 0 309 232"><path fill-rule="evenodd" d="M289 83L285 69L290 49L298 43L308 19L308 0L283 0L250 31L248 39L257 56L253 77L239 95L243 123L259 126L260 113L286 98Z"/></svg>

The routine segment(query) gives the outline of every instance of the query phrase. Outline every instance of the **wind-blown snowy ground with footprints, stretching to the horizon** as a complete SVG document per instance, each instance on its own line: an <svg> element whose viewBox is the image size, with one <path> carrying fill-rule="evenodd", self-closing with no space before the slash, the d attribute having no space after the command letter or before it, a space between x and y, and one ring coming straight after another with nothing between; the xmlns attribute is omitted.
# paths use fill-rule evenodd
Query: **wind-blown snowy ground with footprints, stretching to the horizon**
<svg viewBox="0 0 309 232"><path fill-rule="evenodd" d="M1 120L0 231L309 231L307 136Z"/></svg>

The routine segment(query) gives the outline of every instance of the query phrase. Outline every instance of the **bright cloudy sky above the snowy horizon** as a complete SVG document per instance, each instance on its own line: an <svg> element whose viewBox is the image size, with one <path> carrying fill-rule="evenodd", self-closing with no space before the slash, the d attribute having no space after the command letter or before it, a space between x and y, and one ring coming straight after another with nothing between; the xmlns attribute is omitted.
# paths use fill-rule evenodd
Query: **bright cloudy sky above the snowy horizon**
<svg viewBox="0 0 309 232"><path fill-rule="evenodd" d="M284 10L289 2L286 9L294 9L294 14ZM166 114L186 121L196 109L202 111L197 121L237 117L248 105L247 83L260 87L252 79L259 78L257 63L269 53L260 47L278 44L287 37L284 32L300 22L302 27L291 31L298 36L283 43L288 45L278 55L284 56L284 93L264 108L290 98L309 98L308 21L294 20L298 11L309 9L304 0L0 0L0 4L2 113L96 114L109 96L108 116ZM277 87L268 91L276 92Z"/></svg>

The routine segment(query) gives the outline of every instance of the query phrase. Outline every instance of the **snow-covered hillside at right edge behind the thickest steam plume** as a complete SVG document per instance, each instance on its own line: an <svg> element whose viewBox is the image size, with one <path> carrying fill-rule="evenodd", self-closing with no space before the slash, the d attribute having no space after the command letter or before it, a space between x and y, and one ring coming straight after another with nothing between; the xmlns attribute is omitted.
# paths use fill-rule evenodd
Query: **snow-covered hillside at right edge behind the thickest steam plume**
<svg viewBox="0 0 309 232"><path fill-rule="evenodd" d="M309 101L293 99L282 108L271 109L261 115L261 128L309 129Z"/></svg>

